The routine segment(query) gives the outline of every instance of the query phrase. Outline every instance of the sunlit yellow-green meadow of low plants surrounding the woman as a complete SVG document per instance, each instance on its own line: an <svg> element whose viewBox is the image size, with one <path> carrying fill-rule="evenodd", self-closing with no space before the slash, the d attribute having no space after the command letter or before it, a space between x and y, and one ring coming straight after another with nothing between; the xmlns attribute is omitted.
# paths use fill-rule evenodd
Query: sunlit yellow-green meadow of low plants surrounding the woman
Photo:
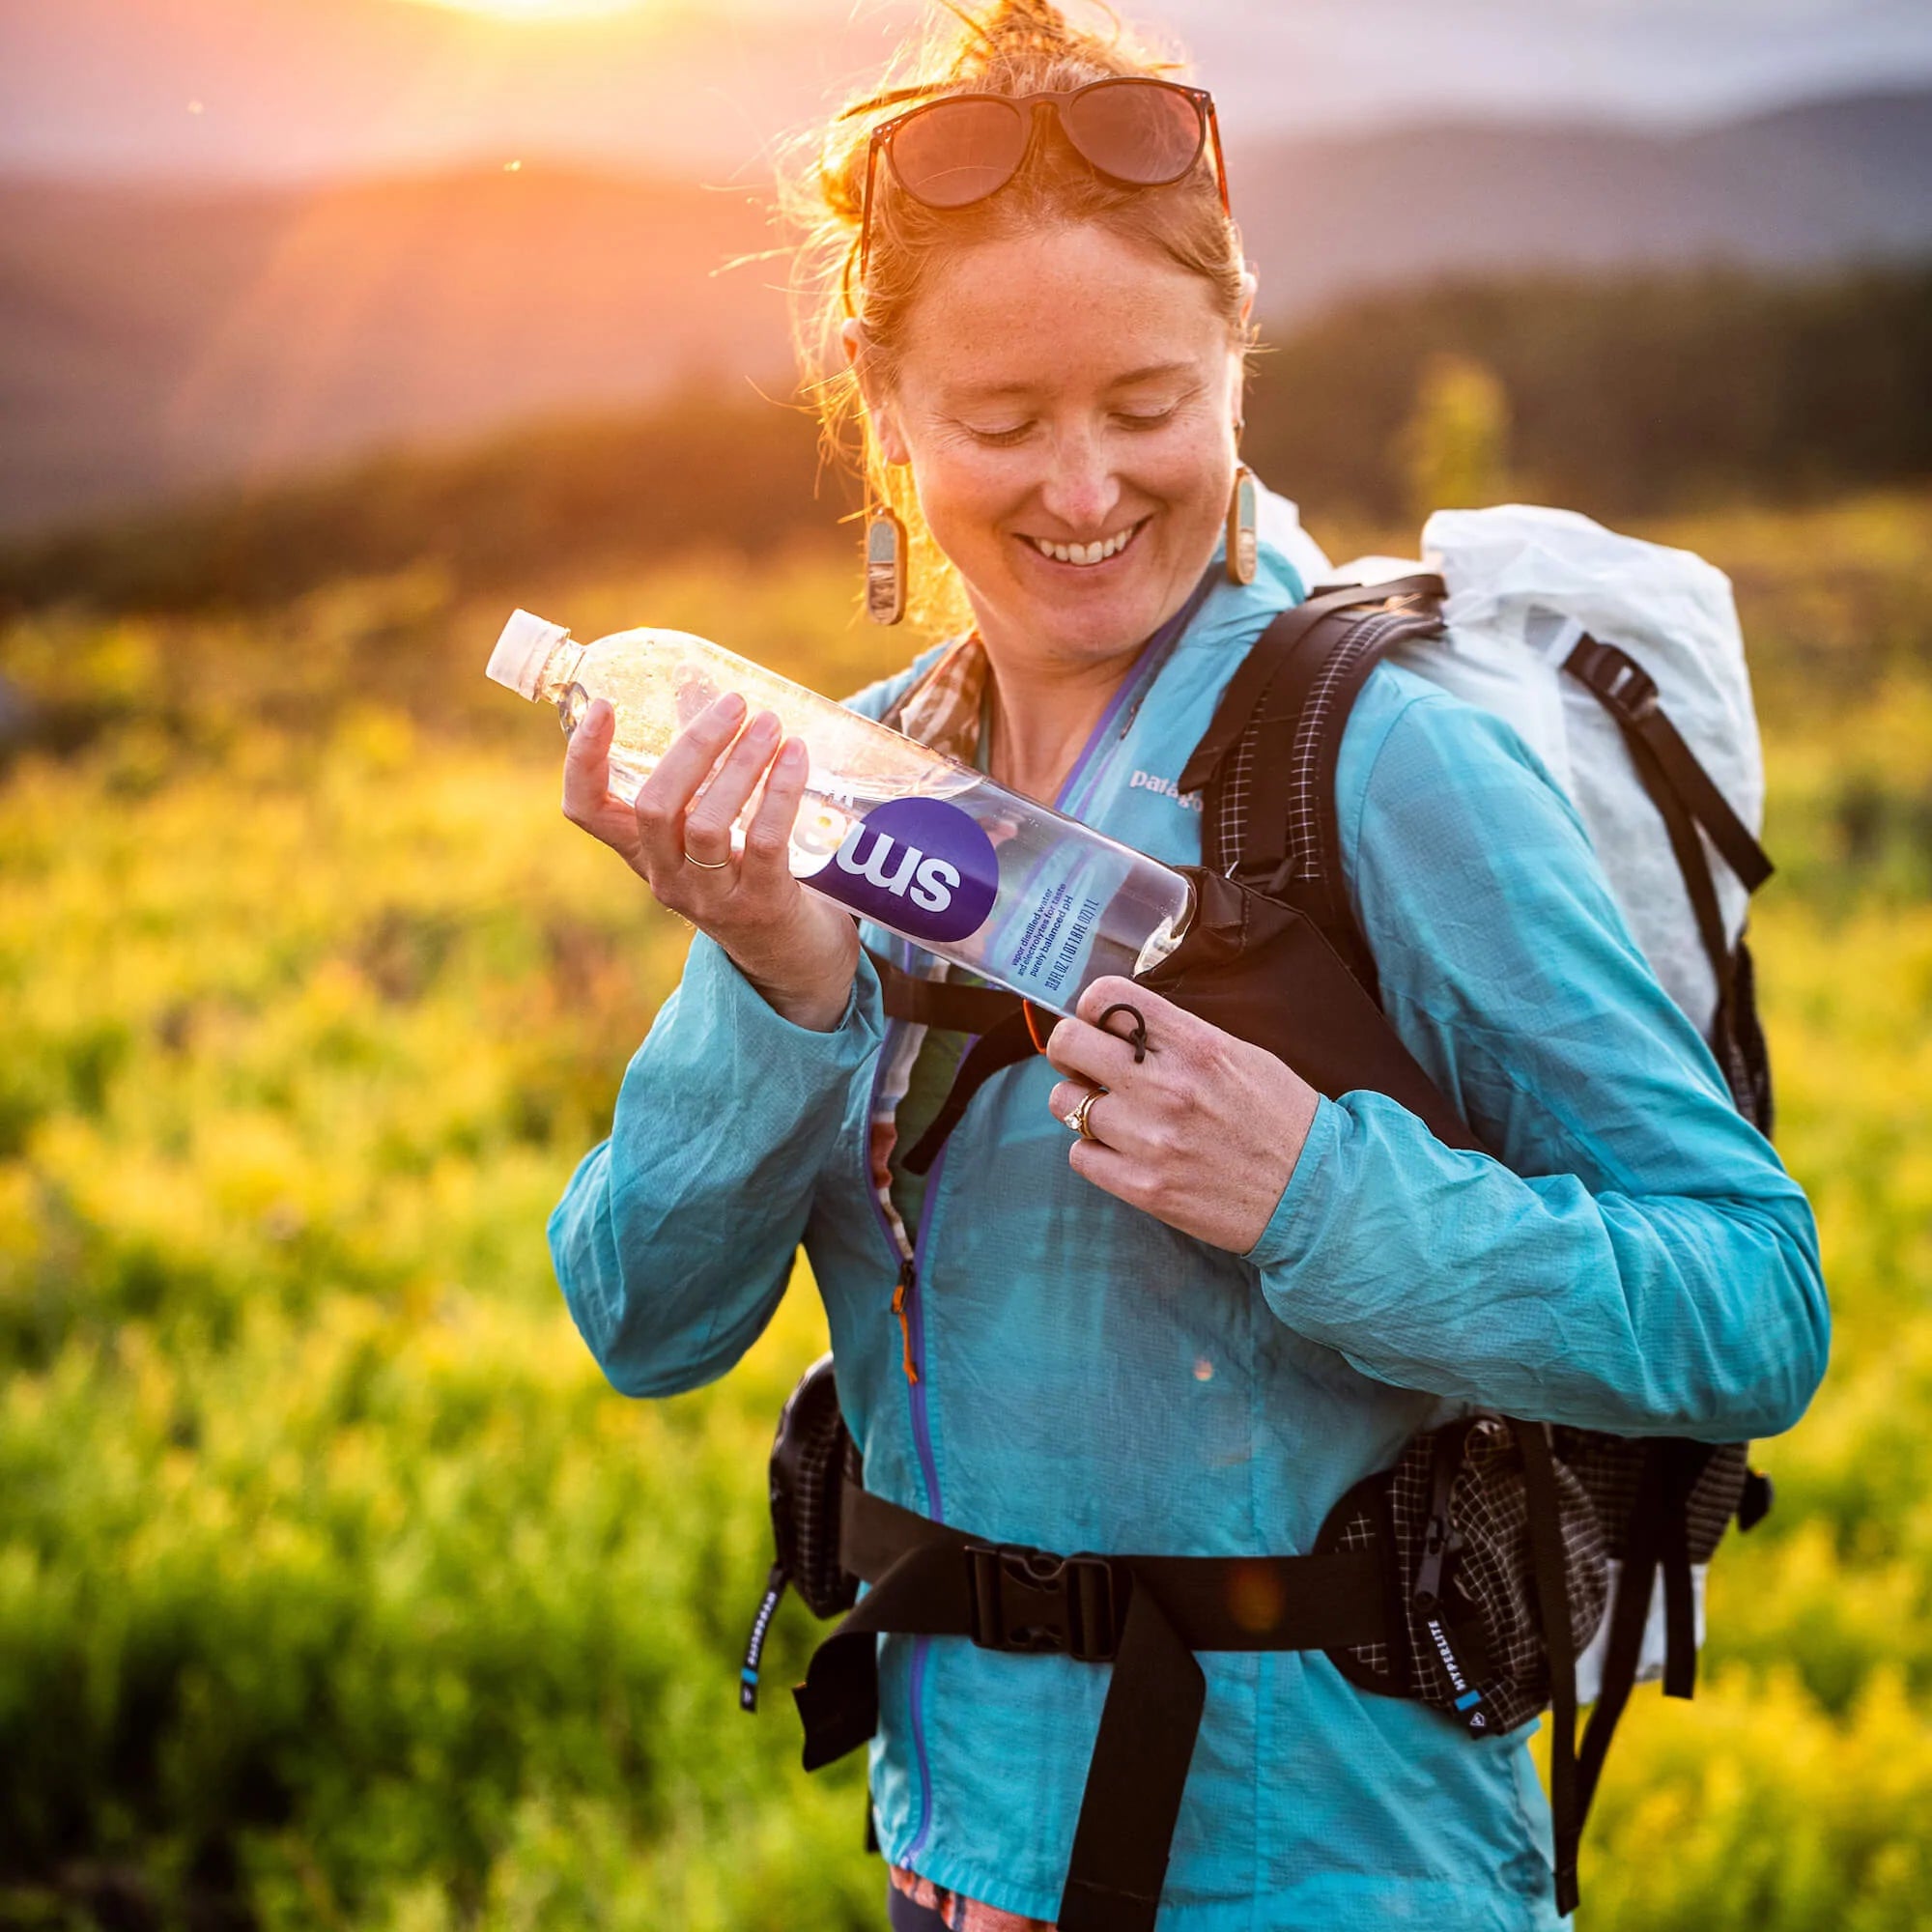
<svg viewBox="0 0 1932 1932"><path fill-rule="evenodd" d="M1704 1690L1627 1719L1584 1922L1903 1932L1932 1884L1932 498L1650 533L1745 599L1781 1144L1839 1325L1762 1449L1776 1515L1716 1571ZM655 1405L572 1333L545 1217L682 935L558 815L554 726L481 678L502 603L452 583L0 634L73 726L0 786L0 1924L877 1924L860 1766L806 1779L790 1712L732 1694L823 1320L800 1279L732 1378ZM831 690L902 647L810 558L527 601ZM781 1613L773 1685L813 1629Z"/></svg>

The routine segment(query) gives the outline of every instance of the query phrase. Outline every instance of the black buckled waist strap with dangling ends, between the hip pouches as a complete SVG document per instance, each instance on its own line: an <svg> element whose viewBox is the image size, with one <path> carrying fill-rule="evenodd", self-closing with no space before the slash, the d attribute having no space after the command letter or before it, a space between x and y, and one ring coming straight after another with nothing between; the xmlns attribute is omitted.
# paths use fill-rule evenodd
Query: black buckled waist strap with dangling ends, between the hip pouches
<svg viewBox="0 0 1932 1932"><path fill-rule="evenodd" d="M806 1770L879 1723L881 1633L966 1636L987 1650L1111 1663L1088 1766L1061 1932L1151 1932L1206 1679L1196 1650L1381 1642L1374 1551L1310 1557L1061 1557L987 1544L848 1486L840 1555L871 1582L798 1687Z"/></svg>

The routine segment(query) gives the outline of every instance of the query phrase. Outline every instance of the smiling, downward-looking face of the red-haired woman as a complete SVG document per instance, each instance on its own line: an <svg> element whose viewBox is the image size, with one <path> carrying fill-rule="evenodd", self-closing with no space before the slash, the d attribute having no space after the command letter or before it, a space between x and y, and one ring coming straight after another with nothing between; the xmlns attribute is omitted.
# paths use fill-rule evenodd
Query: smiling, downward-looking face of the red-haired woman
<svg viewBox="0 0 1932 1932"><path fill-rule="evenodd" d="M1200 580L1238 400L1213 288L1080 224L945 257L873 415L987 645L1072 668L1134 649Z"/></svg>

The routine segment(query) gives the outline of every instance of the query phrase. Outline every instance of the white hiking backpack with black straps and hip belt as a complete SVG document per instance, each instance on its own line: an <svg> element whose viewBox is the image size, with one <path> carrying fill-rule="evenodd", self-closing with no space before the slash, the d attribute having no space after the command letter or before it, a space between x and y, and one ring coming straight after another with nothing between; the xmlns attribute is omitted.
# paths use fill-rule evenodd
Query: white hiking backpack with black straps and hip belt
<svg viewBox="0 0 1932 1932"><path fill-rule="evenodd" d="M1356 582L1320 585L1275 618L1236 668L1179 781L1204 804L1198 910L1142 981L1277 1051L1323 1094L1374 1088L1445 1142L1478 1144L1381 1016L1343 881L1341 738L1368 674L1395 657L1517 724L1577 804L1633 933L1698 1020L1739 1109L1768 1132L1743 912L1770 862L1712 777L1756 819L1762 767L1729 585L1687 553L1555 510L1435 516L1424 541L1439 568L1364 560ZM891 1016L978 1036L906 1155L925 1169L978 1086L1036 1051L1043 1030L1016 995L875 964ZM1281 983L1320 997L1267 999ZM815 1395L802 1403L802 1383L788 1416L837 1420L829 1360L806 1381ZM779 1520L777 1468L781 1453L794 1468L800 1445L781 1426L781 1555L796 1524ZM1416 1435L1337 1499L1306 1557L1061 1557L974 1542L871 1497L842 1424L819 1432L815 1453L821 1484L848 1478L831 1522L837 1561L819 1548L794 1569L811 1575L815 1609L848 1615L798 1689L808 1768L875 1727L879 1631L1115 1662L1115 1685L1132 1658L1113 1739L1111 1690L1101 1718L1063 1932L1151 1926L1200 1718L1192 1652L1208 1648L1320 1648L1358 1689L1416 1698L1474 1737L1548 1708L1555 1895L1573 1911L1578 1835L1631 1689L1662 1675L1665 1694L1692 1694L1704 1567L1733 1519L1750 1528L1770 1507L1743 1443L1476 1414ZM817 1513L821 1528L829 1519ZM1215 1605L1231 1584L1252 1596L1256 1567L1275 1573L1264 1592L1275 1621L1229 1631ZM773 1578L782 1588L777 1567ZM873 1590L852 1609L860 1580ZM755 1640L775 1602L769 1588ZM755 1679L755 1658L748 1667ZM1584 1702L1596 1708L1578 1741ZM1142 1706L1163 1712L1151 1731L1134 1725Z"/></svg>

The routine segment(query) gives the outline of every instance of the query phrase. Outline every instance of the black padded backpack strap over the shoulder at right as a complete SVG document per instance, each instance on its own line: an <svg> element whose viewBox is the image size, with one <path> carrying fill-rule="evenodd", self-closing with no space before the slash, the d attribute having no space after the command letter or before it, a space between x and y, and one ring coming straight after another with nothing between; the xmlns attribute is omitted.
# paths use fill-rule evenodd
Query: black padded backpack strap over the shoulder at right
<svg viewBox="0 0 1932 1932"><path fill-rule="evenodd" d="M1180 775L1180 790L1202 794L1202 866L1304 912L1370 993L1376 962L1349 906L1335 771L1368 674L1439 630L1443 595L1441 578L1416 574L1318 589L1283 611Z"/></svg>

